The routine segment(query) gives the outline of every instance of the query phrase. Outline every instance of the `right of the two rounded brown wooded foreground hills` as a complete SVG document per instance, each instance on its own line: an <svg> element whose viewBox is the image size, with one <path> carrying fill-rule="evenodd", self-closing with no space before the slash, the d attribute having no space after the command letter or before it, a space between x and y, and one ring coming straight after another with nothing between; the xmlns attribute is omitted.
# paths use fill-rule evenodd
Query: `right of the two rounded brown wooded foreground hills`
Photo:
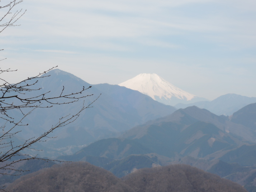
<svg viewBox="0 0 256 192"><path fill-rule="evenodd" d="M236 183L189 165L141 169L123 180L136 192L246 192Z"/></svg>

